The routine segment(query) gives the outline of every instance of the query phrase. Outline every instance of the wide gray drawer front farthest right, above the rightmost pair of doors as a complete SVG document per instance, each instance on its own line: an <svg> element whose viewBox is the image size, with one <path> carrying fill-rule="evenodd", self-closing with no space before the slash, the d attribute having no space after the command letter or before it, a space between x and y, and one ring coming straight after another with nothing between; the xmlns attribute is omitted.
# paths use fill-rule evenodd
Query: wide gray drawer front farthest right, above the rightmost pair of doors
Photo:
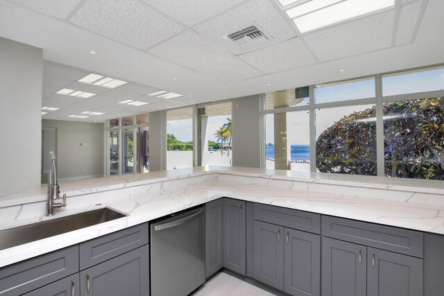
<svg viewBox="0 0 444 296"><path fill-rule="evenodd" d="M420 258L424 256L422 232L413 230L323 216L322 234L382 250Z"/></svg>

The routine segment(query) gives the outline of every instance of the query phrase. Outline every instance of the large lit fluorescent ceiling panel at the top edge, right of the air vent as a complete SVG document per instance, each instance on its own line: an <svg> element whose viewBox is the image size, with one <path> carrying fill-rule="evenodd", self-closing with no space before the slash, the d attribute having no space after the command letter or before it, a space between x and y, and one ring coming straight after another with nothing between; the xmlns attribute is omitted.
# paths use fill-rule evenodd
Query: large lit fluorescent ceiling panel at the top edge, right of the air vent
<svg viewBox="0 0 444 296"><path fill-rule="evenodd" d="M395 0L311 0L286 10L300 33L395 6Z"/></svg>

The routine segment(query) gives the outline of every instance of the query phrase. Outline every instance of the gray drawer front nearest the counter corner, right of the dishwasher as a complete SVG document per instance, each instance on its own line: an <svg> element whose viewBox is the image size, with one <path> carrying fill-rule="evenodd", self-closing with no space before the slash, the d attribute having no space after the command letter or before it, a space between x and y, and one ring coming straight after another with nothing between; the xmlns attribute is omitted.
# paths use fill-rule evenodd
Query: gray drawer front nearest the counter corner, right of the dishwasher
<svg viewBox="0 0 444 296"><path fill-rule="evenodd" d="M255 203L255 220L282 225L304 232L321 233L321 215Z"/></svg>

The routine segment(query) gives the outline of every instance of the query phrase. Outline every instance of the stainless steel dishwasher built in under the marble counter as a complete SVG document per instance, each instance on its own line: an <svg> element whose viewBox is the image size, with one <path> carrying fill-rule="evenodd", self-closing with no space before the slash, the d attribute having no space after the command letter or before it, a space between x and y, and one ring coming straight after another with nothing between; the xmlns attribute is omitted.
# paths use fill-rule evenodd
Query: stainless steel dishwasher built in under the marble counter
<svg viewBox="0 0 444 296"><path fill-rule="evenodd" d="M205 206L151 223L151 296L185 296L205 282Z"/></svg>

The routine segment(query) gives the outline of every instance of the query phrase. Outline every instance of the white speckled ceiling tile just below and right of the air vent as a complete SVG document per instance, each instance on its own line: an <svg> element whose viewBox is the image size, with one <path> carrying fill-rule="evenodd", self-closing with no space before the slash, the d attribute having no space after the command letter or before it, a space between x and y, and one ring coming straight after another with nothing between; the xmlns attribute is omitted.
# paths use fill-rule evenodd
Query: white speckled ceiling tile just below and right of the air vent
<svg viewBox="0 0 444 296"><path fill-rule="evenodd" d="M264 73L285 71L316 62L299 38L245 53L239 58Z"/></svg>

